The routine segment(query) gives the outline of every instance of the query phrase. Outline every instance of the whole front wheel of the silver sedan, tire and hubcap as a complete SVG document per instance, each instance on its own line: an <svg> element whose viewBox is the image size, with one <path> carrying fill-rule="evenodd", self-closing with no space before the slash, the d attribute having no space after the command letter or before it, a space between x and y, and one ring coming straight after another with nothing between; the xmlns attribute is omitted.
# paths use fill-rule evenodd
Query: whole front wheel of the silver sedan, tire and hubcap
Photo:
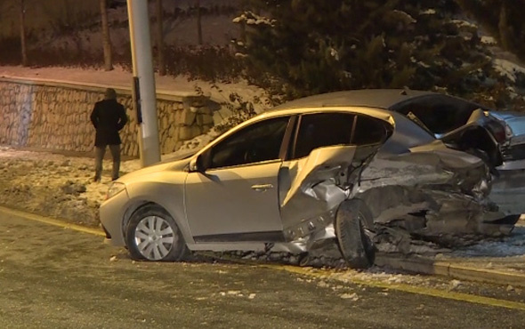
<svg viewBox="0 0 525 329"><path fill-rule="evenodd" d="M125 230L125 244L136 261L182 261L189 253L182 232L162 207L144 205Z"/></svg>

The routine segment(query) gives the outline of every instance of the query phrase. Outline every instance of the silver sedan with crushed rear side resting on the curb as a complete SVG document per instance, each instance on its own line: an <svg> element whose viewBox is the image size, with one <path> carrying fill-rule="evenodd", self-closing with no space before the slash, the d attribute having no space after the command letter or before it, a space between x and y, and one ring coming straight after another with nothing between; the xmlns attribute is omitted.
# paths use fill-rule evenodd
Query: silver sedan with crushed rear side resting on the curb
<svg viewBox="0 0 525 329"><path fill-rule="evenodd" d="M420 93L295 100L191 156L126 174L101 205L107 238L149 261L202 250L303 254L330 240L349 266L367 268L385 232L509 233L517 219L489 199L490 166L389 109Z"/></svg>

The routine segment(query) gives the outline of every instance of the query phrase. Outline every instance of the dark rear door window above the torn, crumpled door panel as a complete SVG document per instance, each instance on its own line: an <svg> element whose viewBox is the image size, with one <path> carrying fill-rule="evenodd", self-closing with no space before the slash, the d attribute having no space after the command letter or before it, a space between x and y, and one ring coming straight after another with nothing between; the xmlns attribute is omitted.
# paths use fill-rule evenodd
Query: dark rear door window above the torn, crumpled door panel
<svg viewBox="0 0 525 329"><path fill-rule="evenodd" d="M350 144L354 117L346 113L303 115L292 158L308 156L314 148Z"/></svg>

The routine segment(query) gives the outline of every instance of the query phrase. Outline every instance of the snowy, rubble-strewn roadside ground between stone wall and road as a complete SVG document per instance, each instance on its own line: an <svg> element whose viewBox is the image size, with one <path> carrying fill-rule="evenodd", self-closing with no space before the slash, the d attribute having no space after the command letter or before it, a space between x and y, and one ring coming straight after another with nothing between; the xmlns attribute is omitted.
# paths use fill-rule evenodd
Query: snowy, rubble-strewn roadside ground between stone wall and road
<svg viewBox="0 0 525 329"><path fill-rule="evenodd" d="M206 135L192 142L206 144ZM189 147L162 156L163 160ZM104 160L101 182L93 182L94 159L61 153L0 146L0 205L98 227L98 209L106 198L111 159ZM123 161L122 174L141 168L140 160Z"/></svg>

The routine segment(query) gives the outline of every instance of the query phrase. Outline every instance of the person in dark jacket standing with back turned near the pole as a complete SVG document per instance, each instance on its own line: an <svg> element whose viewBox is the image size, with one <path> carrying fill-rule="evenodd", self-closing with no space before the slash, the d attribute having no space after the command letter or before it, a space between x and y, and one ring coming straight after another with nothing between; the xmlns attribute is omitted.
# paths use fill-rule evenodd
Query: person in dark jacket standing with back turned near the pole
<svg viewBox="0 0 525 329"><path fill-rule="evenodd" d="M127 123L125 108L117 102L117 92L108 88L104 94L104 100L97 101L91 113L91 122L95 128L95 177L94 181L101 181L102 159L109 146L113 158L113 170L111 179L118 178L120 170L120 136L118 132Z"/></svg>

